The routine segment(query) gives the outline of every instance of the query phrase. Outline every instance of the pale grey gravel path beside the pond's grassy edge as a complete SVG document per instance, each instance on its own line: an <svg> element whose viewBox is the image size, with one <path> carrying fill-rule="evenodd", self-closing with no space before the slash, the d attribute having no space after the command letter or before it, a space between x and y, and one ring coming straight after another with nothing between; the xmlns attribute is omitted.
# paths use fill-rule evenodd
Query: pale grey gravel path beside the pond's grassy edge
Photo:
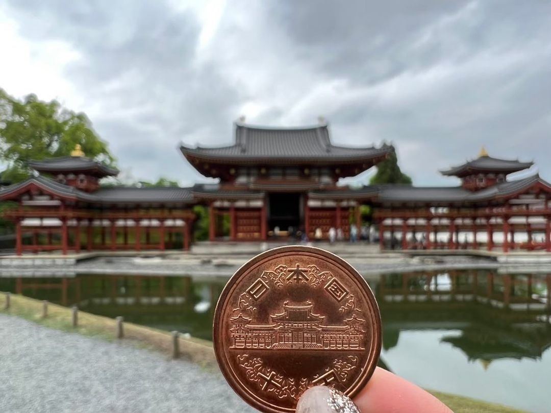
<svg viewBox="0 0 551 413"><path fill-rule="evenodd" d="M0 314L0 411L252 412L220 374Z"/></svg>

